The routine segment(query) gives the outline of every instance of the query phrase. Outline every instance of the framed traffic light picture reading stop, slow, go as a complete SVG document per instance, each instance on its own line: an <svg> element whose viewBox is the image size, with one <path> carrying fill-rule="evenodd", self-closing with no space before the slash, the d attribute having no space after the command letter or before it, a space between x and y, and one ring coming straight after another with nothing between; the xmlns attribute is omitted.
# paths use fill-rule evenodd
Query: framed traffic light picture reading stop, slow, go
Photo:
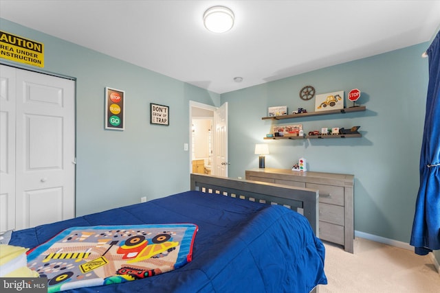
<svg viewBox="0 0 440 293"><path fill-rule="evenodd" d="M105 129L124 130L125 91L105 88Z"/></svg>

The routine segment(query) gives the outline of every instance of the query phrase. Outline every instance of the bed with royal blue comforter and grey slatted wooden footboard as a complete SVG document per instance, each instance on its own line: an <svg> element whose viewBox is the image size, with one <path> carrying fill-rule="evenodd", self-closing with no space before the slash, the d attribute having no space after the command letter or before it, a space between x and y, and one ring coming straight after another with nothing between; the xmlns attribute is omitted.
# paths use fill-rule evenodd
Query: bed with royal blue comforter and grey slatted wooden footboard
<svg viewBox="0 0 440 293"><path fill-rule="evenodd" d="M317 285L327 283L325 248L316 237L318 191L202 174L191 174L190 180L190 191L180 194L14 231L9 244L30 248L30 257L72 227L195 224L195 230L191 230L192 240L186 247L188 261L179 268L135 281L58 289L67 289L67 292L313 292ZM303 215L292 211L297 209ZM140 237L134 240L132 237L133 244L125 244L137 246ZM103 249L108 244L103 244ZM79 263L84 261L78 260ZM28 266L29 263L28 259ZM74 277L71 275L69 279ZM63 283L63 278L58 279Z"/></svg>

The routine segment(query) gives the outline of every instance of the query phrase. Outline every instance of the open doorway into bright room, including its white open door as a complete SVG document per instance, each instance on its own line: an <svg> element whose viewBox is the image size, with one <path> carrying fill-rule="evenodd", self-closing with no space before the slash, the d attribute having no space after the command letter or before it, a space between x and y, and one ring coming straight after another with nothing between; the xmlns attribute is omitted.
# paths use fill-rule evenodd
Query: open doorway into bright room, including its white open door
<svg viewBox="0 0 440 293"><path fill-rule="evenodd" d="M228 176L227 108L190 101L190 173Z"/></svg>

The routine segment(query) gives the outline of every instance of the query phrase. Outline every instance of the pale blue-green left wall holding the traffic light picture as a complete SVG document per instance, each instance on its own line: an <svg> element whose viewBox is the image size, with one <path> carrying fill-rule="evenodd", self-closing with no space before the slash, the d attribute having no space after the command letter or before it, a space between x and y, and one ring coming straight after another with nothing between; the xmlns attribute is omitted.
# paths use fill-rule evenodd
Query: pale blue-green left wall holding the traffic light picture
<svg viewBox="0 0 440 293"><path fill-rule="evenodd" d="M76 215L189 189L189 100L220 95L0 19L0 29L44 43L43 70L76 78ZM126 130L104 130L104 88L126 93ZM151 102L170 126L149 123Z"/></svg>

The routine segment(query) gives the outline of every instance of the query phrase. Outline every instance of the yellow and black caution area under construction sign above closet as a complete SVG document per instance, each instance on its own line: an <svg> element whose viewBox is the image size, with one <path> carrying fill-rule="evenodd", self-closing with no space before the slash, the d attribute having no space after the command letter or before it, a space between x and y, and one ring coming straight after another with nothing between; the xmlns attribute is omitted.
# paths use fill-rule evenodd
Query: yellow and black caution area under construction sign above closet
<svg viewBox="0 0 440 293"><path fill-rule="evenodd" d="M0 58L44 67L44 45L0 30Z"/></svg>

